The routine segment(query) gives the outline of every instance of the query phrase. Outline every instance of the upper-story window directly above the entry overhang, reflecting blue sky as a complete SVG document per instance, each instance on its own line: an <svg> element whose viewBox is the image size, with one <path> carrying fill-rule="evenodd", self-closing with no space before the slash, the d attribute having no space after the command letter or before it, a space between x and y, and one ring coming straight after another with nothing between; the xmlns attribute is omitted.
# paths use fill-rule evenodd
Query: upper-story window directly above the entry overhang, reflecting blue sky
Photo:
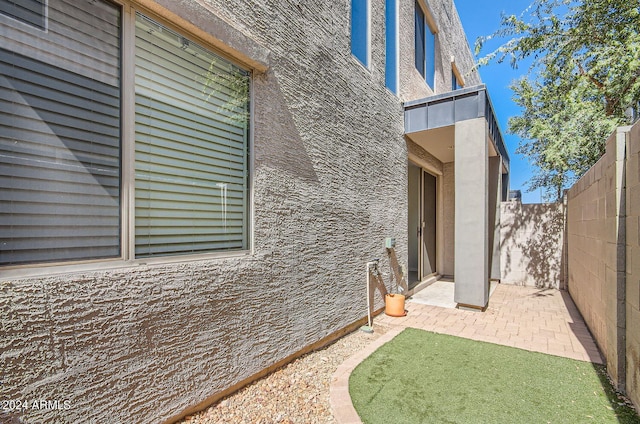
<svg viewBox="0 0 640 424"><path fill-rule="evenodd" d="M435 89L435 25L419 1L415 2L415 65L420 75Z"/></svg>

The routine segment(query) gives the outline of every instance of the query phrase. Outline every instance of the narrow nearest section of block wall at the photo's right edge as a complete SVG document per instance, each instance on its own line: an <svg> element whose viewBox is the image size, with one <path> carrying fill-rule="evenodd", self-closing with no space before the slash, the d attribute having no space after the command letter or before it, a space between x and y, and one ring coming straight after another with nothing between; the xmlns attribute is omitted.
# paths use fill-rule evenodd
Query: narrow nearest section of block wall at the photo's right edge
<svg viewBox="0 0 640 424"><path fill-rule="evenodd" d="M640 410L640 125L629 132L626 157L626 390Z"/></svg>

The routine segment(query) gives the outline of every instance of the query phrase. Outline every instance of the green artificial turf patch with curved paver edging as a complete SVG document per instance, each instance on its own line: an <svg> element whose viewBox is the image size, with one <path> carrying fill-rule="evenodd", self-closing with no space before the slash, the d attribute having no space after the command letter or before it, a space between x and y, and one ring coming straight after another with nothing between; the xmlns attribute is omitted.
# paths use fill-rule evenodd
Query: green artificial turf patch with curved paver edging
<svg viewBox="0 0 640 424"><path fill-rule="evenodd" d="M362 421L639 424L589 362L405 329L351 374Z"/></svg>

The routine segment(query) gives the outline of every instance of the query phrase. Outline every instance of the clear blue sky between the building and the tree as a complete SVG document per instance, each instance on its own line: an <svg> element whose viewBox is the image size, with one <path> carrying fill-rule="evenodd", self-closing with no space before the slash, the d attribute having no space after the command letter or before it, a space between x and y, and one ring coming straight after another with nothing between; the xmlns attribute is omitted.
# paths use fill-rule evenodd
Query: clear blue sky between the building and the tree
<svg viewBox="0 0 640 424"><path fill-rule="evenodd" d="M467 33L467 39L473 50L478 36L489 35L500 27L500 15L520 15L532 2L532 0L454 0L460 20ZM483 56L498 47L500 43L488 43L480 52ZM522 191L524 203L539 203L541 201L540 190L526 191L526 183L533 173L527 158L516 155L518 137L507 134L507 121L510 116L519 115L518 106L511 100L513 93L509 89L511 81L525 74L528 65L522 65L518 69L512 69L509 63L491 63L480 68L482 81L489 89L491 102L500 121L502 135L507 143L509 157L511 159L511 190Z"/></svg>

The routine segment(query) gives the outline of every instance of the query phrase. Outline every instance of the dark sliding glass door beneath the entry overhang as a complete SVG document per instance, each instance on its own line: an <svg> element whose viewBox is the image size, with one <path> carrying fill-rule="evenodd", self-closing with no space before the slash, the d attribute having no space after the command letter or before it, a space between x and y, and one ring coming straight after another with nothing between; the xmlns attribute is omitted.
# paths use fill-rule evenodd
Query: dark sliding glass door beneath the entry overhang
<svg viewBox="0 0 640 424"><path fill-rule="evenodd" d="M437 178L409 162L409 289L435 274Z"/></svg>

